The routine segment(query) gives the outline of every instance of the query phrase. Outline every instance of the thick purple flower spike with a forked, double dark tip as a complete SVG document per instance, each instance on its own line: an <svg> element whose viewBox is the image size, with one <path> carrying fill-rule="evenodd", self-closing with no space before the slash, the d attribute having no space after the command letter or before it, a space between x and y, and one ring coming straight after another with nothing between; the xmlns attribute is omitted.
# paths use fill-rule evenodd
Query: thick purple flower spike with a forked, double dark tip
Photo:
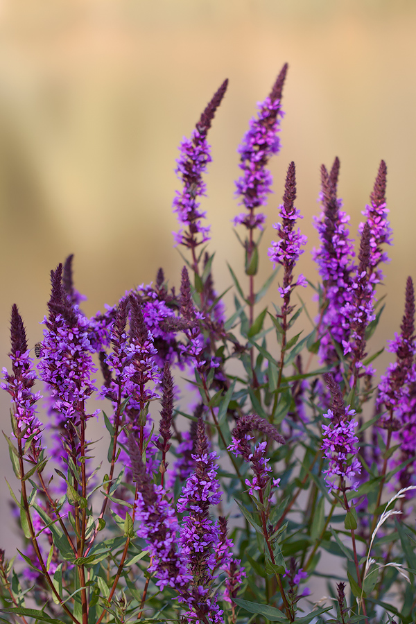
<svg viewBox="0 0 416 624"><path fill-rule="evenodd" d="M322 190L320 201L323 211L315 219L315 227L320 237L320 247L313 250L313 259L318 263L320 277L324 284L323 299L327 302L322 311L318 330L322 333L320 342L320 361L339 366L339 358L333 346L349 340L349 329L345 327L343 309L351 295L351 273L354 270L354 245L349 238L349 216L340 210L342 200L337 198L338 173L340 162L333 162L331 172L321 167ZM323 329L324 328L324 331Z"/></svg>

